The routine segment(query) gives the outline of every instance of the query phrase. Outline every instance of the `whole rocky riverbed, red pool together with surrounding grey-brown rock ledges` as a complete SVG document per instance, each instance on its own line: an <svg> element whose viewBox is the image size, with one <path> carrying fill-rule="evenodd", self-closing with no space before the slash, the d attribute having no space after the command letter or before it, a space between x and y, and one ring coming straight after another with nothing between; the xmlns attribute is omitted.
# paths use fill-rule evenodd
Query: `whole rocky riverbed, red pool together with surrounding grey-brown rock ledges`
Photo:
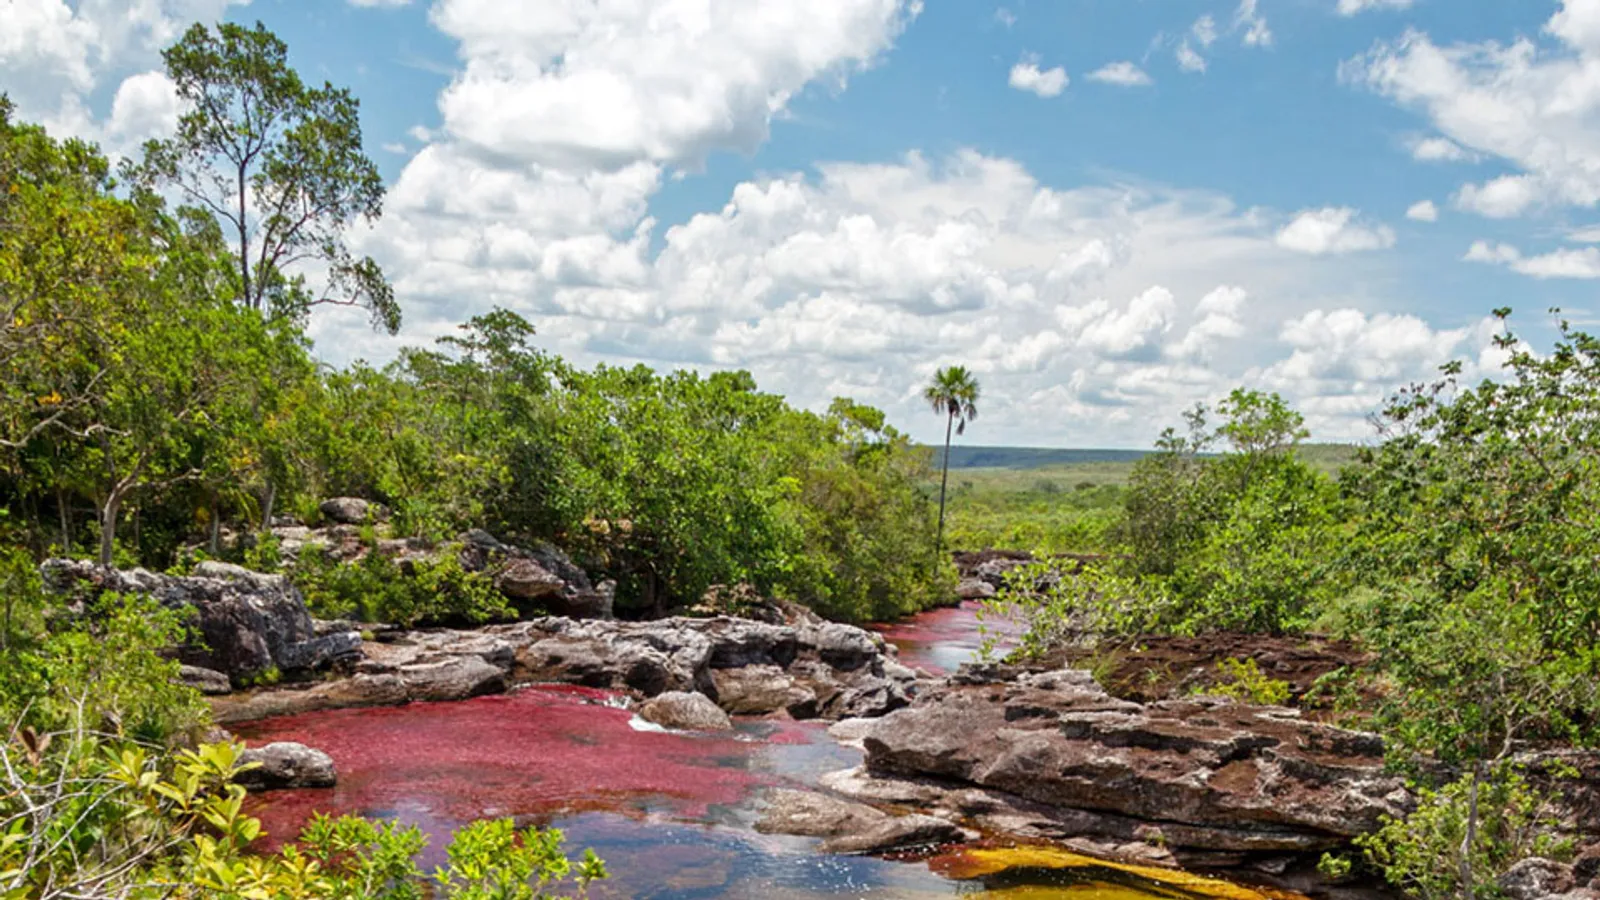
<svg viewBox="0 0 1600 900"><path fill-rule="evenodd" d="M46 575L62 591L141 591L192 612L200 637L174 652L262 762L250 786L267 791L254 802L277 834L312 809L434 831L578 815L605 823L578 839L627 847L619 868L654 823L707 828L738 847L731 858L802 852L848 873L800 895L848 892L856 878L906 887L904 868L843 857L1037 844L1339 894L1312 874L1317 855L1413 802L1376 735L1294 709L1141 703L1080 669L962 666L979 644L971 605L885 629L902 661L878 633L776 604L770 621L542 617L363 636L312 620L282 577L221 564L173 578L53 562ZM288 681L251 687L264 671ZM1562 786L1566 826L1592 841L1600 761L1568 762L1579 777ZM1523 881L1595 897L1600 866L1552 866ZM776 884L765 878L730 873L704 895Z"/></svg>

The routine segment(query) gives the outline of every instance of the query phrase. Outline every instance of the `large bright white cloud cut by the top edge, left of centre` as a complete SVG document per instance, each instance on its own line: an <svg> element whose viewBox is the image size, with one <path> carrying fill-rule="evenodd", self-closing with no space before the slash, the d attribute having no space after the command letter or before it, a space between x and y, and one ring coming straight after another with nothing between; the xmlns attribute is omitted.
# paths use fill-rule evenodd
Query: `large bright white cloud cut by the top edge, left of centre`
<svg viewBox="0 0 1600 900"><path fill-rule="evenodd" d="M491 159L698 167L717 147L754 151L795 93L874 64L918 10L549 0L528 14L514 0L440 0L430 21L466 66L438 106L451 138Z"/></svg>

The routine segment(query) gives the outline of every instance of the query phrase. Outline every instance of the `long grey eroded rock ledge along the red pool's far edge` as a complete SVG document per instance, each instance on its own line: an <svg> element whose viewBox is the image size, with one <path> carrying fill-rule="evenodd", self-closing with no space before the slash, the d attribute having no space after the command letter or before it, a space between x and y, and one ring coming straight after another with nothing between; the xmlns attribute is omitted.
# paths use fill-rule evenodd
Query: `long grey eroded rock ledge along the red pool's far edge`
<svg viewBox="0 0 1600 900"><path fill-rule="evenodd" d="M398 633L360 644L358 653L347 677L214 697L216 721L464 700L538 682L637 697L699 692L738 714L840 719L906 706L915 682L882 637L826 621L549 617L475 631Z"/></svg>

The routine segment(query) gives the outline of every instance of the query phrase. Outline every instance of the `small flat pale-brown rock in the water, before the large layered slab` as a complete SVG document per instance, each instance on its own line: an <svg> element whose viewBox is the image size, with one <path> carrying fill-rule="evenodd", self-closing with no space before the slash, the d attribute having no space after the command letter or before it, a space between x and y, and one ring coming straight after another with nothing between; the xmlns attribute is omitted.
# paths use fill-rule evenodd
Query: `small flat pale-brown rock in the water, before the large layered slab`
<svg viewBox="0 0 1600 900"><path fill-rule="evenodd" d="M974 838L957 825L930 815L890 815L866 804L813 791L774 790L755 830L763 834L827 838L829 854L880 854L907 847L950 844Z"/></svg>

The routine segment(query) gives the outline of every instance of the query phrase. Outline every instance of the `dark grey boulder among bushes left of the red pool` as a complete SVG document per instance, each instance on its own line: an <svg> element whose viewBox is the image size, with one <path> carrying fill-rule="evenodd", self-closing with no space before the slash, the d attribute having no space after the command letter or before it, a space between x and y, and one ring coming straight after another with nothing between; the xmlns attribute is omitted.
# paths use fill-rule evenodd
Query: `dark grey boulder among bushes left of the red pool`
<svg viewBox="0 0 1600 900"><path fill-rule="evenodd" d="M360 655L357 633L317 634L299 589L282 575L224 562L202 562L190 577L144 569L102 569L86 560L51 559L45 583L69 594L147 594L189 615L194 639L178 660L226 674L235 685L277 669L304 673Z"/></svg>

